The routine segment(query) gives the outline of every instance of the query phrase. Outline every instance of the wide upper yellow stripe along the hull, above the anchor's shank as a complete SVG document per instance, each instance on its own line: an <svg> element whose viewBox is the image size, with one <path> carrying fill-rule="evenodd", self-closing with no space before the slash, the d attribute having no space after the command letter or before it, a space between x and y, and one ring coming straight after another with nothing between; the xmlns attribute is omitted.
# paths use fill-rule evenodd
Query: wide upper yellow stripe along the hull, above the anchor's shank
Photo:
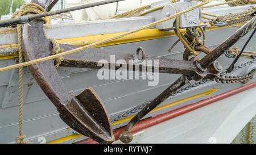
<svg viewBox="0 0 256 155"><path fill-rule="evenodd" d="M222 29L222 28L228 28L228 27L211 27L211 28L208 28L207 31L218 30L218 29ZM181 32L185 32L185 29L181 30ZM109 37L113 37L115 35L119 35L121 33L123 33L123 32L110 33L110 34L104 34L104 35L74 37L71 39L60 39L57 41L59 43L63 43L63 44L84 46L84 45L95 43L96 41L100 41L103 39L107 39ZM174 31L159 31L157 28L152 28L152 29L148 29L148 30L139 31L137 33L133 33L129 36L122 37L121 39L117 39L108 44L100 45L98 47L105 47L105 46L109 46L109 45L118 45L118 44L125 44L125 43L133 43L136 41L159 39L162 37L170 37L170 36L175 36L175 32ZM17 47L18 47L17 44L0 45L0 49L9 49L9 48L17 48ZM14 56L0 55L0 60L14 58L14 57L18 57L18 55L14 55Z"/></svg>

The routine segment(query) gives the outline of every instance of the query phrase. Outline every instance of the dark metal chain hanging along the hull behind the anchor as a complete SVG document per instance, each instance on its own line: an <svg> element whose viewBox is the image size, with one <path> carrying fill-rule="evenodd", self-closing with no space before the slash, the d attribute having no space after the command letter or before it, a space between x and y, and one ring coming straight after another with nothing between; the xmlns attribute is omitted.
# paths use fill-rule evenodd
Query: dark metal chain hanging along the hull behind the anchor
<svg viewBox="0 0 256 155"><path fill-rule="evenodd" d="M256 58L234 67L232 69L232 71L236 71L238 69L245 68L246 66L249 66L249 65L254 64L254 63L256 63ZM220 82L221 81L223 81L223 82L226 81L226 83L235 83L237 81L238 82L244 82L245 79L243 79L243 78L246 78L247 80L253 79L253 76L251 74L248 74L247 76L243 76L243 77L228 77L228 76L224 77L224 75L226 75L226 74L228 74L228 70L225 70L224 72L222 72L220 74L220 77L218 77L218 79L220 79ZM190 90L190 89L192 89L194 87L197 87L197 86L200 86L200 85L203 85L204 83L207 83L209 81L211 81L211 80L210 79L201 79L200 81L197 81L197 82L193 83L192 85L189 85L189 86L186 86L186 87L183 87L183 88L177 90L176 93L172 94L171 96L174 97L177 94L184 93L184 91ZM125 111L125 112L122 112L121 114L112 118L111 123L117 122L118 120L127 118L127 117L129 117L133 114L136 114L138 111L142 110L144 107L146 107L148 104L150 104L150 102L151 102L151 100L149 100L147 102L144 102L142 104L139 104L138 106L133 107L133 108L131 108L131 109Z"/></svg>

